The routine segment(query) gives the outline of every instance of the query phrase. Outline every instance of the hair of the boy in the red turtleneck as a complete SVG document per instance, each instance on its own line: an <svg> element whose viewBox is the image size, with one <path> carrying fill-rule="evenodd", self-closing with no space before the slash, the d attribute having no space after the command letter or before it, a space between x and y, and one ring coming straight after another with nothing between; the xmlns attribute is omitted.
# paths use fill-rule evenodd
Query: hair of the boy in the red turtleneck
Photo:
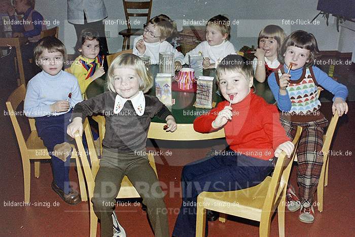
<svg viewBox="0 0 355 237"><path fill-rule="evenodd" d="M252 64L248 63L246 58L237 54L230 54L219 62L216 69L217 81L220 82L222 74L231 72L242 74L248 82L254 78Z"/></svg>

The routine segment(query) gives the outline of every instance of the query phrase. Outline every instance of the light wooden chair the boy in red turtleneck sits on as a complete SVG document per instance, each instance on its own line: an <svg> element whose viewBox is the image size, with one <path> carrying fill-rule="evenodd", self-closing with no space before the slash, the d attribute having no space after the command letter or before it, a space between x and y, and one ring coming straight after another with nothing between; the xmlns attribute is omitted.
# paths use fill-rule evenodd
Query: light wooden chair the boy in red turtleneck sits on
<svg viewBox="0 0 355 237"><path fill-rule="evenodd" d="M299 138L302 128L297 128ZM260 222L259 235L270 235L271 217L277 209L279 235L285 236L285 205L287 183L295 149L290 158L281 152L272 177L257 186L227 192L202 192L197 197L196 236L205 236L206 209ZM216 205L218 204L218 205ZM222 216L225 221L225 215Z"/></svg>

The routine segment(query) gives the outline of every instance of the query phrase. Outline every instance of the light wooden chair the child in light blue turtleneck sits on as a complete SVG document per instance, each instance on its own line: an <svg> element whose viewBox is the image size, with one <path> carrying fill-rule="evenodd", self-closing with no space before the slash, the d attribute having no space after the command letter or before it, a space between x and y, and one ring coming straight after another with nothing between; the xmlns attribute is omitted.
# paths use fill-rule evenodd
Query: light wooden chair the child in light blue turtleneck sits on
<svg viewBox="0 0 355 237"><path fill-rule="evenodd" d="M29 126L31 132L27 140L24 139L21 127L17 121L15 112L19 106L19 104L24 100L26 95L26 88L22 84L16 90L14 90L8 101L6 102L6 107L8 108L12 125L14 126L16 138L18 145L20 147L21 159L22 159L22 169L23 169L23 183L24 183L24 201L29 202L30 196L30 160L34 161L34 176L36 178L40 177L40 161L43 159L51 159L48 155L47 148L43 145L43 141L38 137L37 130L34 125L34 119L28 118ZM23 115L25 116L25 115ZM75 158L78 167L79 165L79 157L77 155L76 149L74 147L72 158ZM86 195L86 187L83 177L83 172L81 168L78 168L78 179L79 179L79 187L81 193L82 201L87 200Z"/></svg>

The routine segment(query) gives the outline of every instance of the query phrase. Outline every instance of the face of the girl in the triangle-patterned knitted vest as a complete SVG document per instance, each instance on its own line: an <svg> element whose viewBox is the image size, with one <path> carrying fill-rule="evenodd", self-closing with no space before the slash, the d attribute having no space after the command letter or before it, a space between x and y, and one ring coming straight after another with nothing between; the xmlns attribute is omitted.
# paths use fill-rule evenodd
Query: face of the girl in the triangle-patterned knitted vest
<svg viewBox="0 0 355 237"><path fill-rule="evenodd" d="M283 54L283 57L285 57L283 60L285 61L287 67L289 67L290 62L292 62L292 70L300 69L307 62L309 62L309 53L310 51L308 49L289 46Z"/></svg>

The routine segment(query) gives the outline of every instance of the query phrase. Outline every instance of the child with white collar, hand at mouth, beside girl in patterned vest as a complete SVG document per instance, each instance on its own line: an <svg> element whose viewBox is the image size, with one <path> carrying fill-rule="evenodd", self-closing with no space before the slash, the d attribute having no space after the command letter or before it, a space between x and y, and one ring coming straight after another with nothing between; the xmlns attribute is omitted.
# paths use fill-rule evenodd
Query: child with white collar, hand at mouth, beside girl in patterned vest
<svg viewBox="0 0 355 237"><path fill-rule="evenodd" d="M253 60L254 74L258 82L264 82L272 72L282 66L277 60L277 52L285 37L285 32L278 25L267 25L260 31L259 48Z"/></svg>

